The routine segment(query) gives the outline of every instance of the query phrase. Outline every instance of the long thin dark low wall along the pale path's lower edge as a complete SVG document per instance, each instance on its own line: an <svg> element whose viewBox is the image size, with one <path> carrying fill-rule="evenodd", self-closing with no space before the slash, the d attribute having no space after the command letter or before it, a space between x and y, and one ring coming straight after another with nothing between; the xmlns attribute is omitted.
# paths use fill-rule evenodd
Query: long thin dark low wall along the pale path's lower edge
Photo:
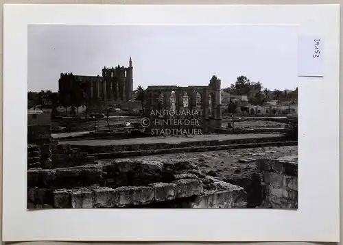
<svg viewBox="0 0 343 245"><path fill-rule="evenodd" d="M187 148L187 147L202 147L202 146L222 146L228 144L249 144L259 142L276 142L276 141L287 141L286 137L265 137L265 138L243 138L233 140L203 140L203 141L192 141L192 142L180 142L175 144L167 143L154 143L154 144L120 144L120 145L100 145L100 146L86 146L78 145L77 142L73 144L72 148L80 148L82 152L89 154L95 153L115 153L123 151L154 151L161 149L171 148Z"/></svg>

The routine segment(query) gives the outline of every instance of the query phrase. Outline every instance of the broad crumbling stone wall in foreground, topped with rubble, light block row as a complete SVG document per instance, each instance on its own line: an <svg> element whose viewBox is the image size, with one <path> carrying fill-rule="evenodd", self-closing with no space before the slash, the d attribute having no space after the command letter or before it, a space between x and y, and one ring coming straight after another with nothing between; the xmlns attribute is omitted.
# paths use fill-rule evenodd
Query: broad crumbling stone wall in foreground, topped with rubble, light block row
<svg viewBox="0 0 343 245"><path fill-rule="evenodd" d="M28 208L246 207L244 188L203 175L189 160L117 160L28 170Z"/></svg>

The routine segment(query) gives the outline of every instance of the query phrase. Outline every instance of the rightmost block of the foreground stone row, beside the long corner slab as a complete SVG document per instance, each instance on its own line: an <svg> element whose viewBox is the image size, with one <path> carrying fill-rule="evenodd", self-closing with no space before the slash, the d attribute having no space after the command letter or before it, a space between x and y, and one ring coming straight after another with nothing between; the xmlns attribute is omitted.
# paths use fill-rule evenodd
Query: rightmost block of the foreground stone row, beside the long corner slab
<svg viewBox="0 0 343 245"><path fill-rule="evenodd" d="M179 179L173 183L176 185L176 198L197 196L203 190L203 185L198 179Z"/></svg>

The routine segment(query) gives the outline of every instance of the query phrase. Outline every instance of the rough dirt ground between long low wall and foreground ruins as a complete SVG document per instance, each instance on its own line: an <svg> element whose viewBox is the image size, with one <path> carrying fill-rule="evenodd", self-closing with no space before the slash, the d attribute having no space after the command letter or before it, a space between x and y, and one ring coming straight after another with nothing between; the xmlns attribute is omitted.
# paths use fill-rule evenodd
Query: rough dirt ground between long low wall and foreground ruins
<svg viewBox="0 0 343 245"><path fill-rule="evenodd" d="M135 157L145 160L170 160L170 159L190 159L197 164L203 172L213 177L227 177L233 173L239 174L256 168L253 159L278 158L286 155L298 155L298 146L272 146L250 149L234 149L223 151L208 151L203 153L178 153L154 155L145 157ZM239 162L242 159L251 158L252 162ZM113 159L106 159L99 162L112 162Z"/></svg>

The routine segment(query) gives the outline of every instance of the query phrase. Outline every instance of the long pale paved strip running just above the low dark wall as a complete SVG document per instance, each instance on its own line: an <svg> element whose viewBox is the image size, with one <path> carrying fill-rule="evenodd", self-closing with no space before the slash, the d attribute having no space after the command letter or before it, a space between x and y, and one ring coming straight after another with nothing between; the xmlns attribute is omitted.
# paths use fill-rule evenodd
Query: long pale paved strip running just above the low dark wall
<svg viewBox="0 0 343 245"><path fill-rule="evenodd" d="M228 134L228 135L217 135L209 134L203 136L193 137L149 137L149 138L130 138L123 140L73 140L63 141L59 144L73 144L78 146L106 146L106 145L121 145L121 144L156 144L156 143L168 143L177 144L180 142L194 142L194 141L205 141L205 140L240 140L246 138L270 138L270 137L281 137L279 133L249 133L249 134Z"/></svg>

